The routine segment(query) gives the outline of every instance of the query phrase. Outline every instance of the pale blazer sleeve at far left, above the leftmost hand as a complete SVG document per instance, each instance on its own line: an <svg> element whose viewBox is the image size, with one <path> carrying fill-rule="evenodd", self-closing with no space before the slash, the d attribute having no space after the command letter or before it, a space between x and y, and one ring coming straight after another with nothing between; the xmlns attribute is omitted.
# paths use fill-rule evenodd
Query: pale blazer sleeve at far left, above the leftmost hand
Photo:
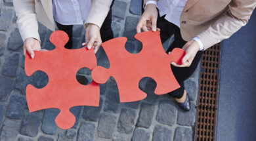
<svg viewBox="0 0 256 141"><path fill-rule="evenodd" d="M14 10L17 16L18 30L22 40L33 37L40 41L38 23L35 14L34 0L13 0Z"/></svg>

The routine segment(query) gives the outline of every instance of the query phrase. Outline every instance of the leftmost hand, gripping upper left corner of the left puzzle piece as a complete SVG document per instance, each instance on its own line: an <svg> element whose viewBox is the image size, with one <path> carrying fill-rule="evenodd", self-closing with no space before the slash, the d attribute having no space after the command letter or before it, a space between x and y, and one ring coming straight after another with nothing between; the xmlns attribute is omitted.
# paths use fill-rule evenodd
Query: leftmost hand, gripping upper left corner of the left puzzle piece
<svg viewBox="0 0 256 141"><path fill-rule="evenodd" d="M28 51L31 58L34 58L35 57L35 53L33 52L34 50L37 50L37 51L41 50L40 41L32 37L27 38L23 44L23 54L26 55L26 51Z"/></svg>

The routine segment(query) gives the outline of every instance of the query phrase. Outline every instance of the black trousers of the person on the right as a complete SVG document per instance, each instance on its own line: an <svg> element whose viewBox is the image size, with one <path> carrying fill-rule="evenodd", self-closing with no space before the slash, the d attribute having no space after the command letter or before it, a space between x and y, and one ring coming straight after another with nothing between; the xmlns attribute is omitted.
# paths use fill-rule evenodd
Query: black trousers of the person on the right
<svg viewBox="0 0 256 141"><path fill-rule="evenodd" d="M164 43L169 37L171 37L174 34L174 41L170 45L169 49L167 49L167 52L171 52L174 48L182 48L186 41L184 41L181 37L181 31L178 26L175 24L172 24L171 22L168 22L164 18L165 16L161 16L158 14L158 22L157 26L160 28L160 37L161 42ZM170 92L171 96L175 98L181 98L184 94L184 81L194 73L196 70L196 67L198 66L198 63L200 62L200 59L202 57L202 51L199 51L191 66L185 67L185 68L179 68L171 65L171 70L173 71L173 74L175 75L175 78L177 79L179 85L181 85L181 88L177 89L176 91Z"/></svg>

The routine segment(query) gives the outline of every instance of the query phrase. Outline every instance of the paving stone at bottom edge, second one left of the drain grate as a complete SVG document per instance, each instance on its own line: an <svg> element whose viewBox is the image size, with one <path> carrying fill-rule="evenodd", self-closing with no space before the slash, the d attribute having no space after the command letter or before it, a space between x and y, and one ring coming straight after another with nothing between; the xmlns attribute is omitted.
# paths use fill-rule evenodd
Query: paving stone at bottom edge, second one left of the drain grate
<svg viewBox="0 0 256 141"><path fill-rule="evenodd" d="M157 125L153 132L153 141L172 141L173 132L166 127Z"/></svg>

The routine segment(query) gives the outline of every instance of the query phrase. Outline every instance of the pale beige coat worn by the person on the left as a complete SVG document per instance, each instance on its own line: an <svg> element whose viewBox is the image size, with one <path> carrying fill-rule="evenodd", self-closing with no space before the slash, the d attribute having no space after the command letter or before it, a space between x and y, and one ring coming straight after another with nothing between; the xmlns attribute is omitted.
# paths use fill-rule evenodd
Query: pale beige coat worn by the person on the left
<svg viewBox="0 0 256 141"><path fill-rule="evenodd" d="M91 0L92 5L85 21L101 27L112 0ZM18 29L22 40L33 37L40 41L37 20L54 31L52 0L13 0L16 11Z"/></svg>

